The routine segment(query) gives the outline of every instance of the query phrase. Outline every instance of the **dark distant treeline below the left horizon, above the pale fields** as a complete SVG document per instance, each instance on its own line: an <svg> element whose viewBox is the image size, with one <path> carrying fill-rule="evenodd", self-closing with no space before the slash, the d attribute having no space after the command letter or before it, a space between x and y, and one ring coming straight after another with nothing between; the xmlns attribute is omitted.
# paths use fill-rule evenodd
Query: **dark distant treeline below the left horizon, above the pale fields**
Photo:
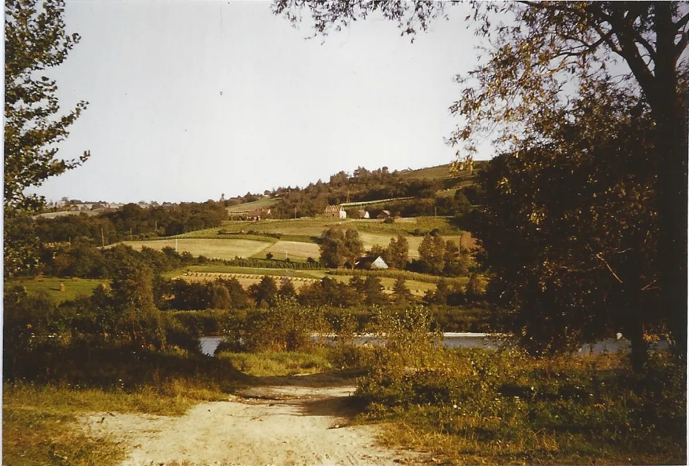
<svg viewBox="0 0 689 466"><path fill-rule="evenodd" d="M23 219L23 227L43 243L73 241L79 237L99 245L128 239L151 239L220 226L227 218L223 205L214 201L177 205L122 208L97 216L67 215L55 219Z"/></svg>

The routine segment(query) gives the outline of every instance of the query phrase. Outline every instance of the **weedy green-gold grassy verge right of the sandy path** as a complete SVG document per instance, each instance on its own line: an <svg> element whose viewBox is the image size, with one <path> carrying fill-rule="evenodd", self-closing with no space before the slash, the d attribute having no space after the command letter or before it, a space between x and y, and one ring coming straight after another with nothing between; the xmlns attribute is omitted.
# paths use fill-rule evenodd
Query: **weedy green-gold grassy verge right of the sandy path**
<svg viewBox="0 0 689 466"><path fill-rule="evenodd" d="M378 363L360 380L362 418L391 423L382 438L389 446L457 464L686 462L686 367L667 354L655 354L643 374L617 354L426 357L411 371L408 362ZM394 356L377 361L386 358Z"/></svg>

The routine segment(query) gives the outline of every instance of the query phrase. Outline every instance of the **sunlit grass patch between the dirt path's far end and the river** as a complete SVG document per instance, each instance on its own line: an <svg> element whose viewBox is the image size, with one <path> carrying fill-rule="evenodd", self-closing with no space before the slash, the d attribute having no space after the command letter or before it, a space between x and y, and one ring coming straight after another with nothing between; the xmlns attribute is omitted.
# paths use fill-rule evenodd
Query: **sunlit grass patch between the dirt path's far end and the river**
<svg viewBox="0 0 689 466"><path fill-rule="evenodd" d="M230 361L244 374L257 377L316 374L331 369L329 351L321 347L309 352L220 352L216 357Z"/></svg>

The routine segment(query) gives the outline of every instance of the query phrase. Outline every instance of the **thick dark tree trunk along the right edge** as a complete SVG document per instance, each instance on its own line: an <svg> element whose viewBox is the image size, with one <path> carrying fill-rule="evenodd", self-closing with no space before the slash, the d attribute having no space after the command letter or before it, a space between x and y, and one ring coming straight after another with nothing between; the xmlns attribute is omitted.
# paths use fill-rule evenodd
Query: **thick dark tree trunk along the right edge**
<svg viewBox="0 0 689 466"><path fill-rule="evenodd" d="M667 313L678 356L687 349L687 126L677 86L675 30L670 6L656 8L655 92L649 97L656 120L658 154L658 263L661 305Z"/></svg>

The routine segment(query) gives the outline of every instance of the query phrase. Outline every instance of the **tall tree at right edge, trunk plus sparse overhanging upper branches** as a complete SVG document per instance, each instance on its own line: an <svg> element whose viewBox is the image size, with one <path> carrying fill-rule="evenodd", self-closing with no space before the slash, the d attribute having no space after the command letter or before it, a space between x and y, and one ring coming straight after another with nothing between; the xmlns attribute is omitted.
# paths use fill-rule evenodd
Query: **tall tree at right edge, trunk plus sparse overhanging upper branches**
<svg viewBox="0 0 689 466"><path fill-rule="evenodd" d="M372 12L398 23L402 35L426 30L443 16L433 1L359 2L276 0L276 14L293 22L308 10L315 34L327 35ZM656 2L472 2L477 34L490 48L468 76L461 99L451 110L464 123L449 141L465 156L476 141L496 134L496 145L509 150L521 135L538 130L554 117L563 99L592 80L623 80L629 92L648 102L657 161L659 286L670 310L678 354L686 353L687 328L687 129L686 93L679 79L682 54L689 44L689 8L677 1ZM628 72L610 65L617 57ZM616 76L612 76L616 74ZM550 119L550 121L553 121ZM497 130L497 133L494 131ZM458 151L459 152L459 151ZM534 212L536 213L536 212Z"/></svg>

